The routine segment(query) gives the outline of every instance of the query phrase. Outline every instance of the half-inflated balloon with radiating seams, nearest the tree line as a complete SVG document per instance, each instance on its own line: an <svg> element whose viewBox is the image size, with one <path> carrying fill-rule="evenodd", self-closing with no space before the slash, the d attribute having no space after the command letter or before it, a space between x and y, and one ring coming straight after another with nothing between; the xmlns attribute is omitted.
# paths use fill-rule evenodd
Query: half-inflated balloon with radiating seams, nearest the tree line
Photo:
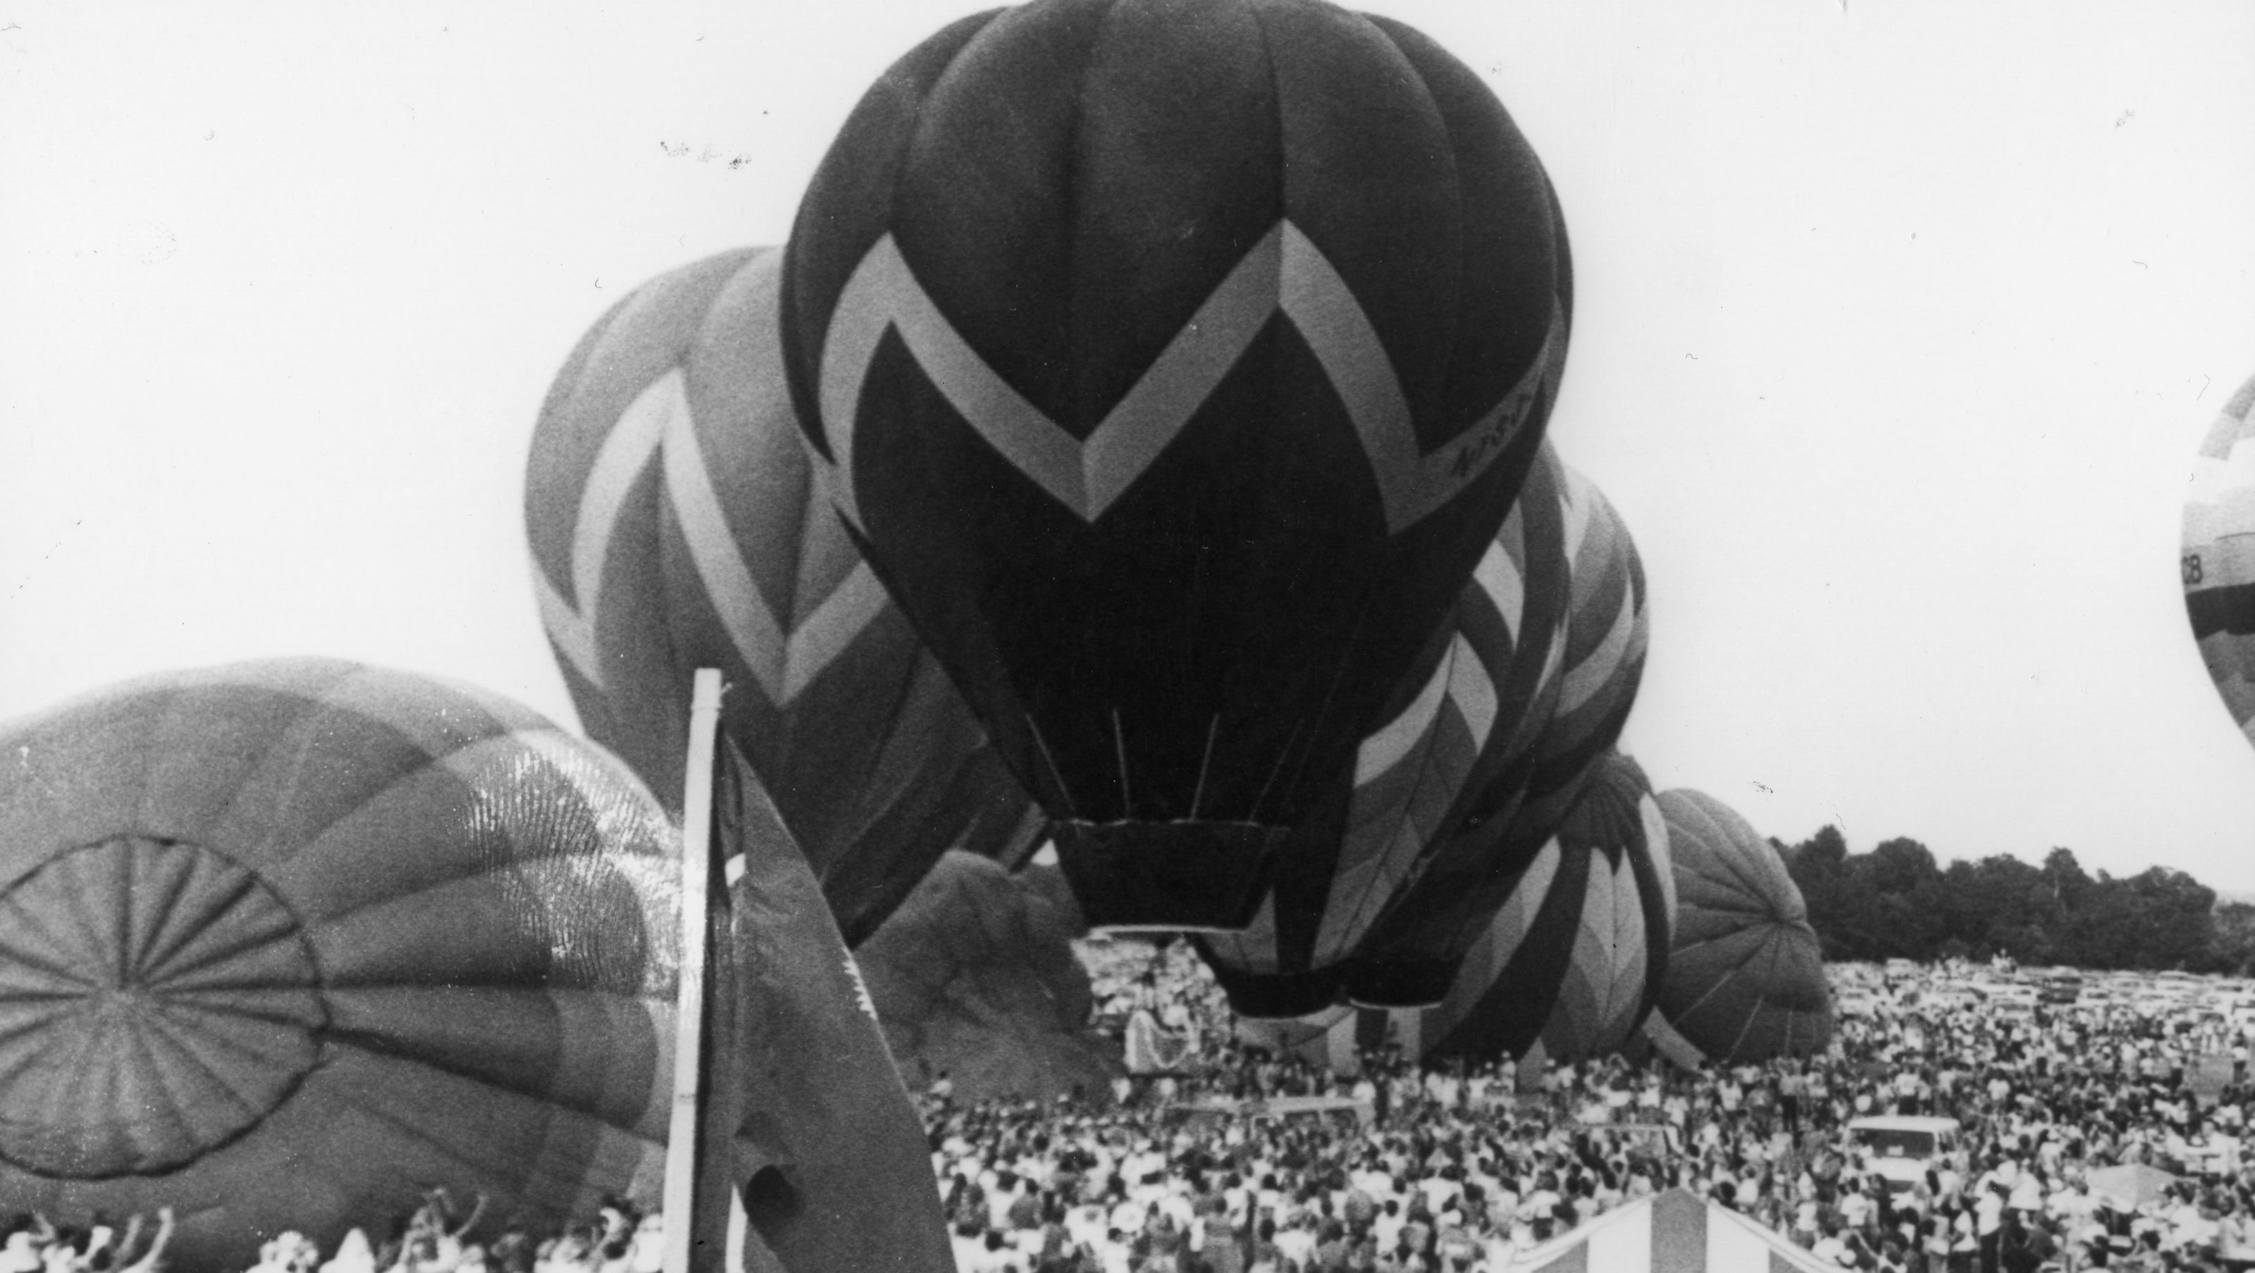
<svg viewBox="0 0 2255 1273"><path fill-rule="evenodd" d="M1705 792L1660 792L1660 813L1675 858L1675 946L1657 1016L1709 1061L1820 1052L1831 986L1777 849Z"/></svg>

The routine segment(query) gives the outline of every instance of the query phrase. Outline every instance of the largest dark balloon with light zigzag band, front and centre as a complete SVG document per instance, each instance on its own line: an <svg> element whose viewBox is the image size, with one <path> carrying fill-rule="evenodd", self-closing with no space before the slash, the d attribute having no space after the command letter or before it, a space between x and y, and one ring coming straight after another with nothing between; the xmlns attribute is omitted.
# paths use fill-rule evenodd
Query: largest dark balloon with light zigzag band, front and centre
<svg viewBox="0 0 2255 1273"><path fill-rule="evenodd" d="M1542 438L1511 117L1317 0L1035 0L884 72L785 255L830 494L1089 921L1249 923Z"/></svg>

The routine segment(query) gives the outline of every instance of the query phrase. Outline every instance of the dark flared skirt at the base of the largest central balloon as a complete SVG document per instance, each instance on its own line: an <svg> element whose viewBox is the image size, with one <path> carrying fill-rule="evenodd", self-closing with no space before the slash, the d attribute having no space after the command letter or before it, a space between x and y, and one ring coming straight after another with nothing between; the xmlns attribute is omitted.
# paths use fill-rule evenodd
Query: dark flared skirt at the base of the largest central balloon
<svg viewBox="0 0 2255 1273"><path fill-rule="evenodd" d="M1288 828L1258 822L1058 822L1058 864L1094 930L1238 930Z"/></svg>

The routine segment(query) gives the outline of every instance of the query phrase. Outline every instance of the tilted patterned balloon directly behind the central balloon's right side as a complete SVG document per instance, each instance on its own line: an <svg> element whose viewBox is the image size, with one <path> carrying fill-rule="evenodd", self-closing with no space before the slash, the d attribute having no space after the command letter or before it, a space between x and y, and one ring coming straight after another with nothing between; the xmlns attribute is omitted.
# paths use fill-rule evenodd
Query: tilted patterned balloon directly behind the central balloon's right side
<svg viewBox="0 0 2255 1273"><path fill-rule="evenodd" d="M1294 828L1254 923L1197 937L1240 1013L1285 1018L1337 1000L1348 957L1461 817L1466 792L1529 756L1565 652L1563 494L1565 467L1545 445L1387 725L1355 752L1353 781Z"/></svg>

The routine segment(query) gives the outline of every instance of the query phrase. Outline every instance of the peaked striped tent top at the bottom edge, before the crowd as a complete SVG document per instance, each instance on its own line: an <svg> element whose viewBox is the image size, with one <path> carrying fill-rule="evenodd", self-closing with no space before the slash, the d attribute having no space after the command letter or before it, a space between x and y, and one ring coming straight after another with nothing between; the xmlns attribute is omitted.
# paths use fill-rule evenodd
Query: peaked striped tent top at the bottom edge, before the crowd
<svg viewBox="0 0 2255 1273"><path fill-rule="evenodd" d="M1513 1273L1840 1273L1691 1189L1610 1210L1511 1264Z"/></svg>

